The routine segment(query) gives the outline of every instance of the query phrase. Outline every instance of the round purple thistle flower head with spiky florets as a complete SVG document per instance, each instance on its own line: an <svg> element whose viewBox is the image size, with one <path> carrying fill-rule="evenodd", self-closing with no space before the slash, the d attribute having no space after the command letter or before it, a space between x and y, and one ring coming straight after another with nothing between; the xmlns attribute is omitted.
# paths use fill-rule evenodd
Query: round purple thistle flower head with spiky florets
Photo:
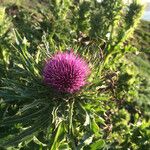
<svg viewBox="0 0 150 150"><path fill-rule="evenodd" d="M61 92L73 93L86 84L89 73L84 59L73 52L58 52L46 61L43 77L47 85Z"/></svg>

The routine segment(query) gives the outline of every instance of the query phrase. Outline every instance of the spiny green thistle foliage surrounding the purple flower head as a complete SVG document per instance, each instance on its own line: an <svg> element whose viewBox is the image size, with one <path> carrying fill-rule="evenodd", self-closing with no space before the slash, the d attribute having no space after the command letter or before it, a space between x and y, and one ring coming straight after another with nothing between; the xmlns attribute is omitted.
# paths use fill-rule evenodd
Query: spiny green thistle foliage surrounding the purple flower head
<svg viewBox="0 0 150 150"><path fill-rule="evenodd" d="M147 150L149 23L133 34L142 10L136 0L2 3L1 149ZM42 82L45 59L70 48L92 70L73 95Z"/></svg>

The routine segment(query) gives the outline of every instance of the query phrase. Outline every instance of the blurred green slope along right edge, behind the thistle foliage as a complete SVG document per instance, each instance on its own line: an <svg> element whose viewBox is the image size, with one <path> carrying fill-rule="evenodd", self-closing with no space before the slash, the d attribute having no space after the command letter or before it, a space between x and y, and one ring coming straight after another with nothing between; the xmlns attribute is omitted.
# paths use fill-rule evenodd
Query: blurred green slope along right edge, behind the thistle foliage
<svg viewBox="0 0 150 150"><path fill-rule="evenodd" d="M130 58L138 68L142 80L137 104L142 108L145 117L150 116L150 22L141 21L135 30L134 40L131 42L139 53Z"/></svg>

